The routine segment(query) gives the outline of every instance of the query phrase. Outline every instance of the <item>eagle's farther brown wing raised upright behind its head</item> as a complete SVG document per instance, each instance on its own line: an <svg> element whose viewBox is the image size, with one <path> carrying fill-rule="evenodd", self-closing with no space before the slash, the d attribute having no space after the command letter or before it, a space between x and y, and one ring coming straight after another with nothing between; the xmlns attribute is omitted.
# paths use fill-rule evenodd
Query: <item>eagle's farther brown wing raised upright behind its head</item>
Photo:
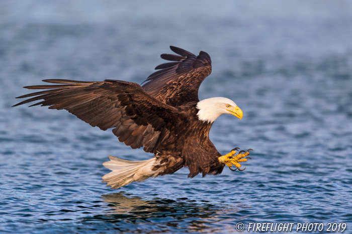
<svg viewBox="0 0 352 234"><path fill-rule="evenodd" d="M179 55L162 54L169 61L157 66L160 71L151 74L142 87L147 93L171 106L181 106L188 102L198 102L198 89L202 81L211 73L210 56L201 51L198 56L183 49L170 46Z"/></svg>

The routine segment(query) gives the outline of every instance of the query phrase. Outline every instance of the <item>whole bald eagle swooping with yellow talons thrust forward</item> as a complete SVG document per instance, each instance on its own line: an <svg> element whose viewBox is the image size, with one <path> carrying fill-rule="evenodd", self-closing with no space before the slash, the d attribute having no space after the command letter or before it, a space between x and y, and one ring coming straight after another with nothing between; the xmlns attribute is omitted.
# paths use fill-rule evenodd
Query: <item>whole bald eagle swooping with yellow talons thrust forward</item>
<svg viewBox="0 0 352 234"><path fill-rule="evenodd" d="M234 148L221 155L209 139L210 128L220 115L243 116L230 99L198 99L199 86L211 73L210 56L203 51L196 56L177 47L170 49L178 55L162 54L162 59L171 62L157 66L159 71L143 86L121 80L43 80L55 85L24 87L44 91L20 96L31 98L14 106L40 100L31 106L65 109L93 127L113 128L119 141L131 148L144 147L154 154L145 161L109 156L103 165L112 171L103 176L103 182L112 188L172 174L182 167L189 168L188 177L217 175L225 165L243 170L240 162L247 161L250 149L237 152L239 148Z"/></svg>

